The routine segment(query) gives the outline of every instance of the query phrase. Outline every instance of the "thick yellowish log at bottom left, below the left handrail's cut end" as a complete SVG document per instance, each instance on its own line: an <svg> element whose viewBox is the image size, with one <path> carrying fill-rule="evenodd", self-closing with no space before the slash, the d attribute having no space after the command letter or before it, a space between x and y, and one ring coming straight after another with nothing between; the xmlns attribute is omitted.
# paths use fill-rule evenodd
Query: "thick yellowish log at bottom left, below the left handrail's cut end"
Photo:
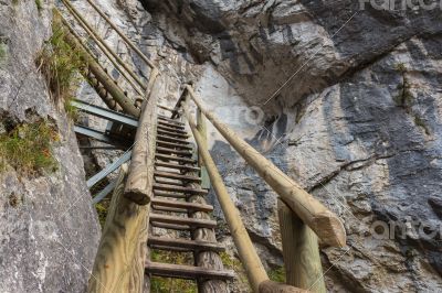
<svg viewBox="0 0 442 293"><path fill-rule="evenodd" d="M127 165L123 165L110 200L95 257L90 293L143 291L149 205L139 206L123 196Z"/></svg>

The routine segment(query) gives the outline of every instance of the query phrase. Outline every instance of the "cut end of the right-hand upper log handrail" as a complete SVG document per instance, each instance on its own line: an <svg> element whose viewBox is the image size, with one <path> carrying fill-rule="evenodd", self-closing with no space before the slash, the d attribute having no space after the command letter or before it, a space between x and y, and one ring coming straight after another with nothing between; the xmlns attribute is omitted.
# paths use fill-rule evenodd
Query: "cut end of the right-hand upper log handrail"
<svg viewBox="0 0 442 293"><path fill-rule="evenodd" d="M343 223L333 213L324 213L315 217L315 232L319 239L332 247L346 246L347 235Z"/></svg>

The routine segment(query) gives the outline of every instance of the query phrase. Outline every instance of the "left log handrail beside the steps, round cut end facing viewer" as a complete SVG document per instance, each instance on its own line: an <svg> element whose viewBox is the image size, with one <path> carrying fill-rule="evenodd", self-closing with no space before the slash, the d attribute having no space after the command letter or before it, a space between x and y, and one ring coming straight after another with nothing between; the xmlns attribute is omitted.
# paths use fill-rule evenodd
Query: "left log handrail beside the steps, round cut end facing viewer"
<svg viewBox="0 0 442 293"><path fill-rule="evenodd" d="M143 113L135 137L134 151L127 177L125 196L139 205L150 202L154 184L155 146L157 137L157 101L162 90L162 78L149 80L151 90L143 104Z"/></svg>

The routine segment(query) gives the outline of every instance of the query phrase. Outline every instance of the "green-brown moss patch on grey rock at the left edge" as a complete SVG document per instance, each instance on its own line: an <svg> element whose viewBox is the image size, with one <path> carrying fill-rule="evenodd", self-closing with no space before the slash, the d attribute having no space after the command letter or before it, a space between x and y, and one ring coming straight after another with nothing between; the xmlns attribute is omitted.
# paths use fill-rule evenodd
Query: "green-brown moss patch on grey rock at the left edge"
<svg viewBox="0 0 442 293"><path fill-rule="evenodd" d="M52 143L59 134L45 121L20 124L0 135L0 166L9 164L22 173L54 172L57 162L53 158Z"/></svg>

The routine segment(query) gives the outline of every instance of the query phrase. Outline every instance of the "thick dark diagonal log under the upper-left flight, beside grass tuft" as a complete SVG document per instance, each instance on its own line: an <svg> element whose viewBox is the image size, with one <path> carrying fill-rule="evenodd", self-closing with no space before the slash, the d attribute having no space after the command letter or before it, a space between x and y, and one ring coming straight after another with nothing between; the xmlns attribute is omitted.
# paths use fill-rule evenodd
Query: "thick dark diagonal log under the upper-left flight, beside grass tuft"
<svg viewBox="0 0 442 293"><path fill-rule="evenodd" d="M114 80L105 73L98 63L86 51L82 48L80 42L69 32L64 30L64 40L73 48L77 50L81 58L87 65L87 68L95 76L95 78L103 85L104 88L110 94L115 101L123 108L125 113L131 115L134 117L139 116L139 109L134 106L134 102L126 97L124 91L114 83ZM87 72L82 72L83 76L87 78Z"/></svg>

